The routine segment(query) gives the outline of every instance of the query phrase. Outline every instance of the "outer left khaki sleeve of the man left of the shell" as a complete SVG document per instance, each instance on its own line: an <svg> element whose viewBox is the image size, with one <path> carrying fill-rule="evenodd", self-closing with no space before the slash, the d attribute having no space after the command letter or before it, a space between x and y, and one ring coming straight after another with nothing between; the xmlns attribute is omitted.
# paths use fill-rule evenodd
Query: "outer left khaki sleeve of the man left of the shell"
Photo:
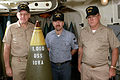
<svg viewBox="0 0 120 80"><path fill-rule="evenodd" d="M12 41L12 31L11 31L11 26L8 26L6 28L6 32L5 32L5 35L4 35L4 38L3 38L3 42L11 44L11 41Z"/></svg>

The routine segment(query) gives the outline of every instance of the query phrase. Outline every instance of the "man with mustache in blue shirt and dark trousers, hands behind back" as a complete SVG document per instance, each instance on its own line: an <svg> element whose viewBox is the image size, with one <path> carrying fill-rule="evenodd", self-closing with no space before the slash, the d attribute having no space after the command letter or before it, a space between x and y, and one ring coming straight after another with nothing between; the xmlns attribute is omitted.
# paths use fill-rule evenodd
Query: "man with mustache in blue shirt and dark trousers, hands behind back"
<svg viewBox="0 0 120 80"><path fill-rule="evenodd" d="M55 30L47 34L46 44L52 65L53 80L71 80L71 59L78 49L77 39L73 33L63 28L63 13L53 14L52 23Z"/></svg>

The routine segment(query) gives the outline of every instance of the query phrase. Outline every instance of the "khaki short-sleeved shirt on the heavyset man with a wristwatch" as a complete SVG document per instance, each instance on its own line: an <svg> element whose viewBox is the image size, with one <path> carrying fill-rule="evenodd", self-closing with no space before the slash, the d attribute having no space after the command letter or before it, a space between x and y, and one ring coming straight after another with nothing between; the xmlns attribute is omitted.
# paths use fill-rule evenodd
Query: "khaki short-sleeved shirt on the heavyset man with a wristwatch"
<svg viewBox="0 0 120 80"><path fill-rule="evenodd" d="M91 66L101 66L108 63L109 48L120 46L112 29L100 25L95 33L90 27L85 27L79 37L79 47L83 48L82 62Z"/></svg>

